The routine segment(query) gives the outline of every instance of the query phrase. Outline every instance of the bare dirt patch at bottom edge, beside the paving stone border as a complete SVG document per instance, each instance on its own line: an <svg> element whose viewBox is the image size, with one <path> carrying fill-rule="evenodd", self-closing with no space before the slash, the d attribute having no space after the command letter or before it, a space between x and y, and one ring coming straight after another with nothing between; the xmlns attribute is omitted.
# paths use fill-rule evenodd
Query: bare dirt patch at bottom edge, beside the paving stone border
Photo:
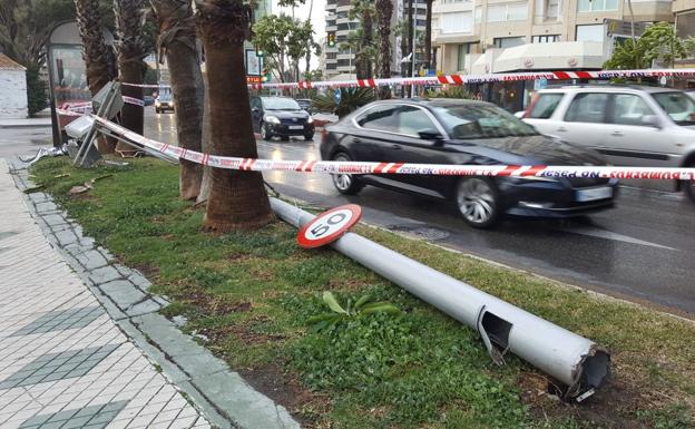
<svg viewBox="0 0 695 429"><path fill-rule="evenodd" d="M238 371L254 389L282 404L302 428L317 429L321 419L331 408L331 400L306 389L296 374L283 371L277 365L245 368Z"/></svg>

